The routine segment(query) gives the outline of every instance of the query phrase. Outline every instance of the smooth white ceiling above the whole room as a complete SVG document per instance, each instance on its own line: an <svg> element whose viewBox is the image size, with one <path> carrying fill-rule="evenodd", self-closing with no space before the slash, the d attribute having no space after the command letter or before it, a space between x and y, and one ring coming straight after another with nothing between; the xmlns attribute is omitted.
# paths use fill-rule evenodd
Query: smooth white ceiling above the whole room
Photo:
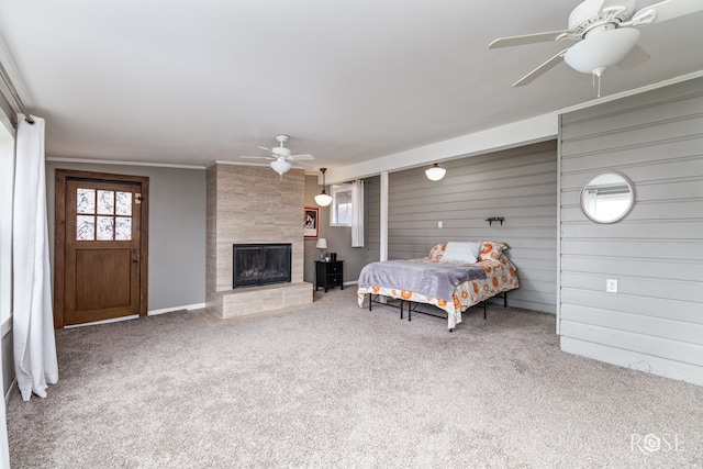
<svg viewBox="0 0 703 469"><path fill-rule="evenodd" d="M568 42L488 49L578 3L0 0L0 31L48 157L204 166L287 133L334 169L594 99L566 64L511 87ZM703 13L640 31L651 59L603 94L703 70Z"/></svg>

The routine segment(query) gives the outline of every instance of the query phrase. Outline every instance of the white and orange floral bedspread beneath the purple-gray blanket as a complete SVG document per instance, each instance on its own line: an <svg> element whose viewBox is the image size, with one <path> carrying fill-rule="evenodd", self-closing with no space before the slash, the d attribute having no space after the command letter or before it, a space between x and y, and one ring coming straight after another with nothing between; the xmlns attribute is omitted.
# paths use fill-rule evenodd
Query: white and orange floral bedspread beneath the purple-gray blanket
<svg viewBox="0 0 703 469"><path fill-rule="evenodd" d="M411 260L416 263L443 264L440 260L437 261L429 257ZM359 308L364 308L366 294L371 293L416 303L432 304L447 312L447 327L454 328L461 322L462 311L466 311L470 306L491 297L520 287L517 269L505 257L501 256L496 260L480 260L476 263L476 266L480 266L486 271L487 278L469 280L460 283L454 291L454 301L446 301L438 298L427 297L425 294L419 294L411 290L404 290L403 286L398 286L395 288L376 286L359 287L357 290L357 301L359 303Z"/></svg>

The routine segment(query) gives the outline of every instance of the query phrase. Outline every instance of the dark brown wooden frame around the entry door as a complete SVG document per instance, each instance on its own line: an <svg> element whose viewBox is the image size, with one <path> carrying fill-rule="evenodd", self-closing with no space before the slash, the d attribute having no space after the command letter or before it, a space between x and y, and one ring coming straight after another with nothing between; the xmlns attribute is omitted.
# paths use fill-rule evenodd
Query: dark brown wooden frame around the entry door
<svg viewBox="0 0 703 469"><path fill-rule="evenodd" d="M148 233L149 233L149 178L146 176L115 175L110 172L56 169L54 200L54 328L63 328L66 321L66 182L87 180L99 182L131 182L141 185L141 239L140 239L140 316L148 312Z"/></svg>

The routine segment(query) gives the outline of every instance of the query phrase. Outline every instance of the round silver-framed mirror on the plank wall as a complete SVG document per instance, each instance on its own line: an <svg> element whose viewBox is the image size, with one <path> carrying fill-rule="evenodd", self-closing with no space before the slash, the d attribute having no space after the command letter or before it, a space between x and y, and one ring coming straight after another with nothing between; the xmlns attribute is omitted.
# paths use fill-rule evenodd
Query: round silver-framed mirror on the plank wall
<svg viewBox="0 0 703 469"><path fill-rule="evenodd" d="M625 175L598 172L581 188L581 210L596 223L623 220L635 204L635 188Z"/></svg>

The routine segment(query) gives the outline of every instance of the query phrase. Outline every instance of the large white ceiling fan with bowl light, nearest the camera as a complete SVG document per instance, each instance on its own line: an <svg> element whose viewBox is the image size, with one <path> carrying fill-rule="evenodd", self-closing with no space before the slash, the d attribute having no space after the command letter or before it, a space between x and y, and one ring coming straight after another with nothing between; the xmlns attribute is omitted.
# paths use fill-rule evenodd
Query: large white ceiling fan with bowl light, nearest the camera
<svg viewBox="0 0 703 469"><path fill-rule="evenodd" d="M574 70L592 74L598 78L600 97L600 78L607 67L618 65L621 69L627 70L649 59L649 55L637 45L638 26L661 23L703 10L701 0L665 0L635 10L636 1L585 0L569 14L567 30L501 37L488 47L576 41L576 44L517 80L513 87L532 82L563 60Z"/></svg>

